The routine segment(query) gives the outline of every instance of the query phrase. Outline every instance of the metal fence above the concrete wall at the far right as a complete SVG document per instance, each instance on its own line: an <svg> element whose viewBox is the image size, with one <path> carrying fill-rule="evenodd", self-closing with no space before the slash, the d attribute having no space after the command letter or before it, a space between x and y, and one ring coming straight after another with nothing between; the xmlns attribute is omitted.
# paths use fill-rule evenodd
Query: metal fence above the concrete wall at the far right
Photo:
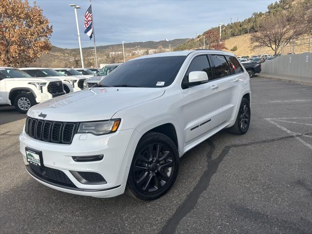
<svg viewBox="0 0 312 234"><path fill-rule="evenodd" d="M301 53L307 53L312 52L312 39L306 38L306 39L300 39L291 42L287 46L281 47L281 55L289 55L289 54L301 54Z"/></svg>

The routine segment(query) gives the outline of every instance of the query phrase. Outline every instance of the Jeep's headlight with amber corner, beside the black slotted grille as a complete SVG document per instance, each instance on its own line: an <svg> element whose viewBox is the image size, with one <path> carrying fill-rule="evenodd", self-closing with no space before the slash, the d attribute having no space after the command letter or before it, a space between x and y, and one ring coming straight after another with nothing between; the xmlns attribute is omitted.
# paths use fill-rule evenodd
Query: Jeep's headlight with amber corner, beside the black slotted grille
<svg viewBox="0 0 312 234"><path fill-rule="evenodd" d="M78 133L92 133L94 135L103 135L117 131L120 119L112 119L98 122L82 122L79 124Z"/></svg>

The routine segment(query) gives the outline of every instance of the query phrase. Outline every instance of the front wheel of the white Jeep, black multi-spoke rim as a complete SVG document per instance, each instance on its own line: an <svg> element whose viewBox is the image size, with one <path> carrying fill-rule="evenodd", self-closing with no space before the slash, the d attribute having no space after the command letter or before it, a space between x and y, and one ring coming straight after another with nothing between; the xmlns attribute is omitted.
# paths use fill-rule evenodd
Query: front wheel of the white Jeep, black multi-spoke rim
<svg viewBox="0 0 312 234"><path fill-rule="evenodd" d="M179 155L173 140L161 133L147 133L137 144L127 192L141 200L157 199L172 187L178 170Z"/></svg>

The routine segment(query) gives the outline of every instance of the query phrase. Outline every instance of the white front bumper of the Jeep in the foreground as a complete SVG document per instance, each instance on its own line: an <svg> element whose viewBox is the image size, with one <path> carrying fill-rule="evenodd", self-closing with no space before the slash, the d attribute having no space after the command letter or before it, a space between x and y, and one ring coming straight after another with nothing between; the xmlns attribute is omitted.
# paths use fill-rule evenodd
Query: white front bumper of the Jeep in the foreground
<svg viewBox="0 0 312 234"><path fill-rule="evenodd" d="M76 134L72 144L56 144L44 142L29 137L25 131L20 134L20 152L23 156L27 172L40 183L76 195L97 197L117 196L124 192L126 185L125 174L128 173L123 160L126 147L133 130L121 130L113 134L95 136L92 134ZM25 148L29 147L42 152L42 162L45 168L59 170L73 183L64 186L58 181L50 180L32 170L27 159ZM73 156L103 155L99 161L77 162ZM98 173L106 180L103 184L85 184L72 172Z"/></svg>

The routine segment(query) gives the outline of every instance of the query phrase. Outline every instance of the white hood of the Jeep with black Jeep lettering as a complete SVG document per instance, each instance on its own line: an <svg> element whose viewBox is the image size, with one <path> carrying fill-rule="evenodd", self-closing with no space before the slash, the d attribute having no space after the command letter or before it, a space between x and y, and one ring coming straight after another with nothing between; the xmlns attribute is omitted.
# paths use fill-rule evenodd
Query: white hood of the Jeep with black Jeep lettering
<svg viewBox="0 0 312 234"><path fill-rule="evenodd" d="M105 87L91 88L39 103L27 115L45 120L81 122L110 119L125 108L158 98L162 88Z"/></svg>

